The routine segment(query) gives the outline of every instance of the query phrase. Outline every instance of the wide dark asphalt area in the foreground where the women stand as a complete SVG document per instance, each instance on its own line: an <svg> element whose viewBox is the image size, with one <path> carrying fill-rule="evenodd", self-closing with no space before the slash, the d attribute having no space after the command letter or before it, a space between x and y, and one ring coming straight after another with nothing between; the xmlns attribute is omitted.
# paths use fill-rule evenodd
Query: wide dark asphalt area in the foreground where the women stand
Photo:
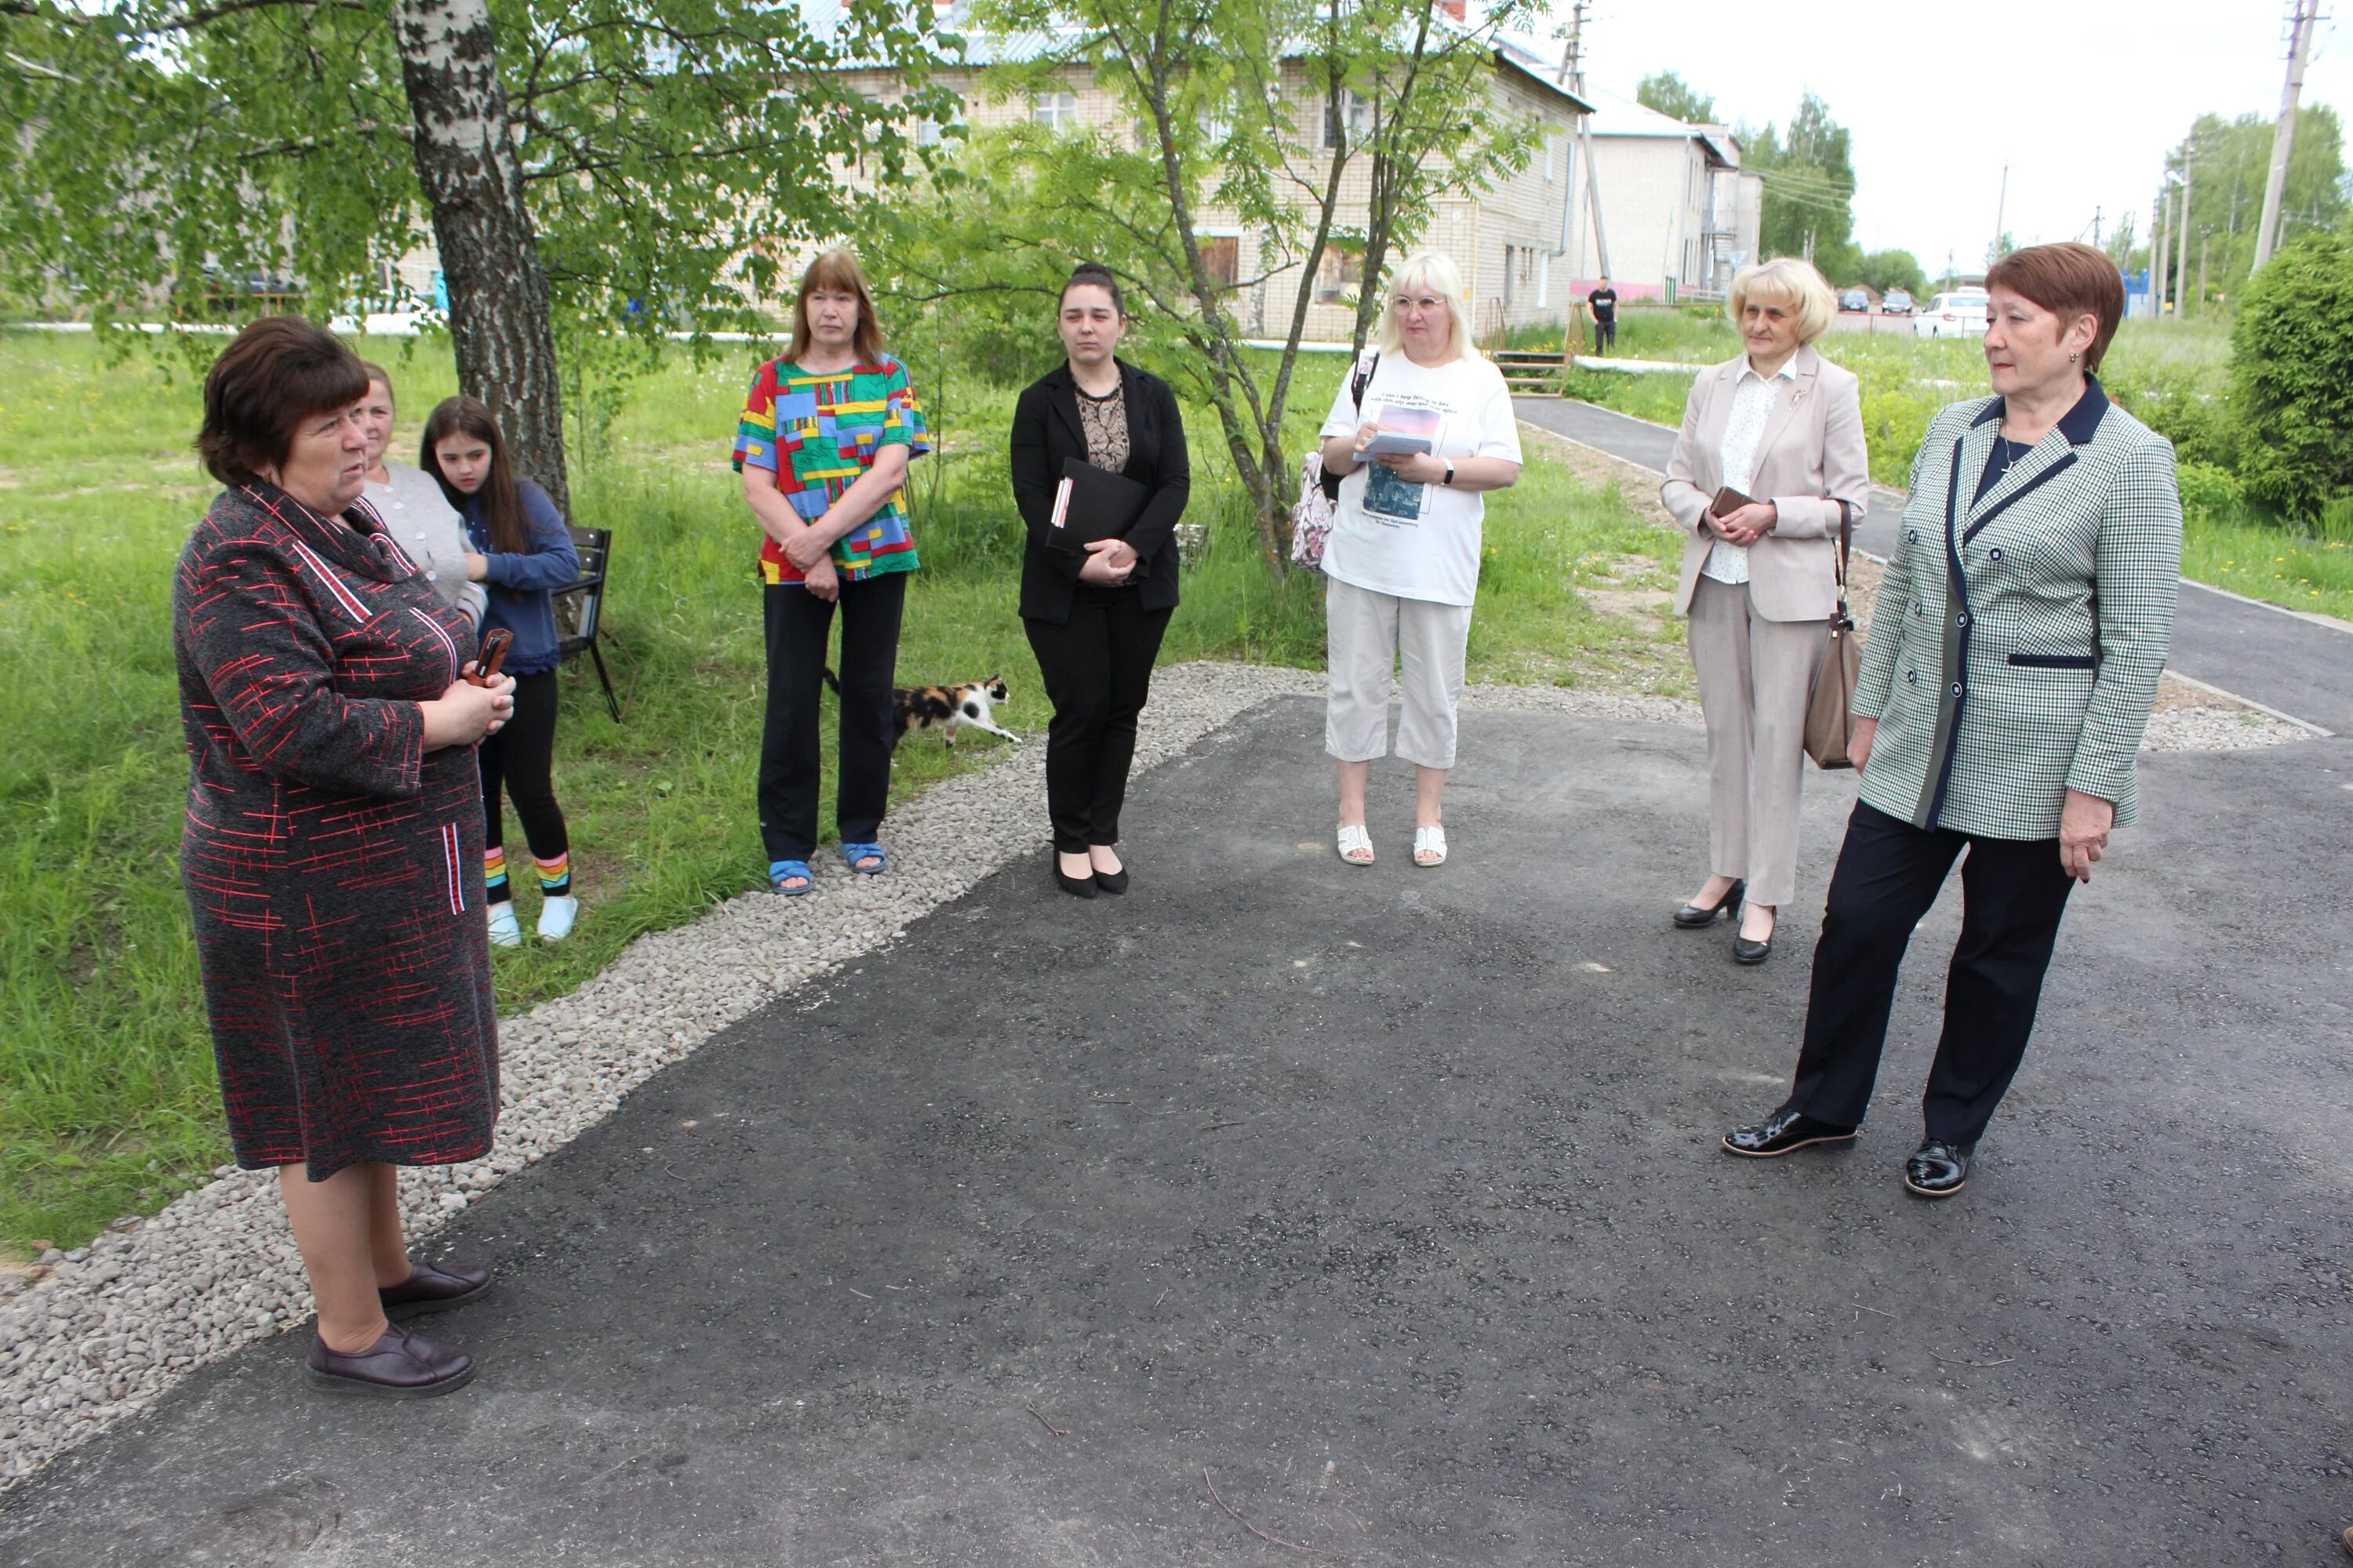
<svg viewBox="0 0 2353 1568"><path fill-rule="evenodd" d="M1320 733L1245 715L1139 783L1127 898L1040 851L459 1215L496 1291L421 1324L473 1387L256 1345L0 1497L0 1561L2341 1559L2353 743L2146 759L1925 1204L1953 893L1859 1147L1715 1147L1784 1091L1852 780L1746 971L1666 919L1694 731L1466 712L1438 872L1395 764L1332 856Z"/></svg>

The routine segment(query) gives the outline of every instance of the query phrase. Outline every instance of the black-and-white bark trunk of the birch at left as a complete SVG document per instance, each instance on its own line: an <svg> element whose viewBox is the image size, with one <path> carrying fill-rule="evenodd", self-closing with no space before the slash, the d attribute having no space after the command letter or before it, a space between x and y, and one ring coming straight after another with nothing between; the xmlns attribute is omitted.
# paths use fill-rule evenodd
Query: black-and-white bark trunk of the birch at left
<svg viewBox="0 0 2353 1568"><path fill-rule="evenodd" d="M522 205L489 5L398 0L393 38L416 120L416 179L449 282L456 381L499 416L515 475L536 480L569 517L548 275Z"/></svg>

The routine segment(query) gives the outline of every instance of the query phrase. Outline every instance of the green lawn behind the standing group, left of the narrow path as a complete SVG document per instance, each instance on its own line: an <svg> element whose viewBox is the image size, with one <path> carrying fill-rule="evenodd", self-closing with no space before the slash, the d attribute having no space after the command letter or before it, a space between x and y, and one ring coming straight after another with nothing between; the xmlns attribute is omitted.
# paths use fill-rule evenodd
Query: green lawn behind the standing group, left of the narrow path
<svg viewBox="0 0 2353 1568"><path fill-rule="evenodd" d="M433 400L454 390L447 350L362 353L400 383L395 451L407 451ZM605 444L574 465L579 520L616 534L605 628L635 705L614 724L584 665L562 675L555 778L586 912L562 947L496 954L506 1013L569 992L640 931L758 884L758 534L727 470L748 369L751 350L673 360L631 388ZM1294 447L1339 374L1339 362L1306 367ZM922 390L939 456L913 480L925 569L901 679L1002 672L1014 686L1005 722L1042 729L1014 616L1012 393ZM12 1253L160 1208L226 1159L176 870L186 759L172 559L216 489L188 454L195 423L186 367L108 367L87 339L0 334L0 1248ZM1212 534L1165 658L1320 668L1318 581L1266 578L1214 421L1191 409L1188 428L1193 520ZM1619 496L1529 458L1520 487L1489 501L1473 679L1682 691L1678 642L1642 609L1671 583L1675 541ZM911 743L896 790L991 755ZM534 898L520 893L525 922Z"/></svg>

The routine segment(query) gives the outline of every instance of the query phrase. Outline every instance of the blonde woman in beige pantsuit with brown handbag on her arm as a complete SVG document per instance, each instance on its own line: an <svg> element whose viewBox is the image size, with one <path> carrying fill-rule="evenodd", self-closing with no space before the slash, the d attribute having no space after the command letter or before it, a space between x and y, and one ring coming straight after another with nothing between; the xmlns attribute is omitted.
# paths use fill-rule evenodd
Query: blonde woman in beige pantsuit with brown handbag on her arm
<svg viewBox="0 0 2353 1568"><path fill-rule="evenodd" d="M1675 924L1739 919L1732 957L1772 954L1798 884L1805 705L1838 609L1840 524L1864 515L1861 386L1809 343L1838 315L1793 256L1732 277L1739 360L1699 371L1659 491L1689 529L1675 609L1708 719L1708 882ZM1718 494L1725 505L1718 505Z"/></svg>

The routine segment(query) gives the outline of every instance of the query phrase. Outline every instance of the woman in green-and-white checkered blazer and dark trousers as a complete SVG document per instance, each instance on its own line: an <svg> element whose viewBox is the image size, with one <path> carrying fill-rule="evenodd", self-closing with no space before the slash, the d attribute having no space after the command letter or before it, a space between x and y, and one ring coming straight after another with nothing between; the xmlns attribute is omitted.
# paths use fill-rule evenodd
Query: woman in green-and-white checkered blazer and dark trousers
<svg viewBox="0 0 2353 1568"><path fill-rule="evenodd" d="M1725 1150L1861 1131L1897 966L1953 860L1960 947L1904 1164L1951 1197L2033 1032L2059 917L2134 816L2134 757L2181 569L2174 449L2092 371L2125 313L2115 263L2038 244L1988 275L1993 397L1929 423L1864 646L1861 802L1831 877L1788 1100Z"/></svg>

